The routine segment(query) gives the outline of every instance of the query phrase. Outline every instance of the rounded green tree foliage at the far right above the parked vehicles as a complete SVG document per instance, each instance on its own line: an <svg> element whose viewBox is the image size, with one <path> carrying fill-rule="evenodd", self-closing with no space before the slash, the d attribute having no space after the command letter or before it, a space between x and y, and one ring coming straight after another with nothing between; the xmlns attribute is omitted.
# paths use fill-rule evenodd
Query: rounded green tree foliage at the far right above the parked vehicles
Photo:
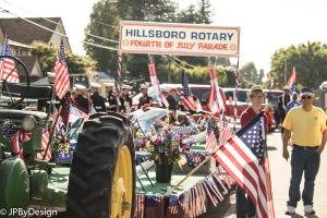
<svg viewBox="0 0 327 218"><path fill-rule="evenodd" d="M288 80L293 66L296 70L298 85L318 87L322 81L327 80L327 45L307 41L278 49L271 58L271 73L277 87L286 85L284 69Z"/></svg>

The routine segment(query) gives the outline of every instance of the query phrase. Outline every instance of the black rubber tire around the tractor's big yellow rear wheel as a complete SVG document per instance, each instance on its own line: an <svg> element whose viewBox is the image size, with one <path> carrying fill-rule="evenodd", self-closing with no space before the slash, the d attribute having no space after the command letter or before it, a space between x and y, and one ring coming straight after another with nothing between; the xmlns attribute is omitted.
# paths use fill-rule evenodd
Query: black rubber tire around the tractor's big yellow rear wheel
<svg viewBox="0 0 327 218"><path fill-rule="evenodd" d="M73 154L66 197L66 217L108 218L117 155L129 146L134 159L133 137L126 122L114 114L98 117L84 123ZM132 162L134 165L134 161ZM132 213L135 207L135 167L133 171Z"/></svg>

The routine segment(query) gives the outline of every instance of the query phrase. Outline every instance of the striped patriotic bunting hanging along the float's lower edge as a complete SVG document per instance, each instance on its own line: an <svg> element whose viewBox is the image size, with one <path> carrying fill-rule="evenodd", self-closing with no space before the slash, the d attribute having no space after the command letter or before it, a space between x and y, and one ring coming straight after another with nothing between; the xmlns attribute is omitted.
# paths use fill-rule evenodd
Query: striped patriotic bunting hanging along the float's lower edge
<svg viewBox="0 0 327 218"><path fill-rule="evenodd" d="M180 195L136 194L136 217L199 217L218 206L230 190L230 178L219 169Z"/></svg>

